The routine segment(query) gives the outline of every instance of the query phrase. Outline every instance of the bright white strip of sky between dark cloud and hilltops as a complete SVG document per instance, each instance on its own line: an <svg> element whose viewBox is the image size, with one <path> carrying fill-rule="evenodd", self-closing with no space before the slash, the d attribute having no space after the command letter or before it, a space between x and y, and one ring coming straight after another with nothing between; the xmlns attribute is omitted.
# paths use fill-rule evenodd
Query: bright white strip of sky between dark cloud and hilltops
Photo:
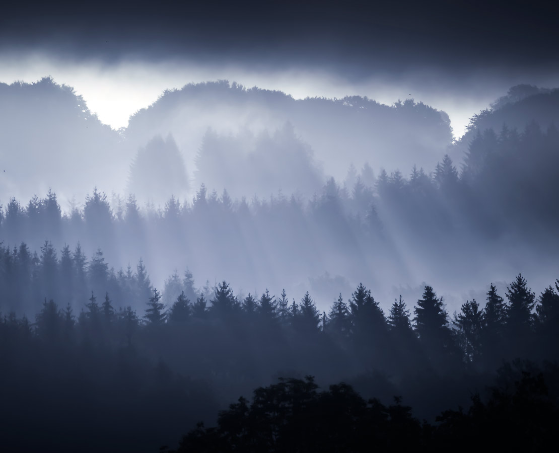
<svg viewBox="0 0 559 453"><path fill-rule="evenodd" d="M125 61L116 65L78 64L41 55L4 55L0 60L0 82L20 80L31 83L50 75L56 83L73 87L89 109L115 129L126 127L130 115L157 101L165 89L181 88L191 82L227 79L245 87L281 90L294 98L360 95L388 105L398 99L413 98L447 112L454 137L458 138L473 115L505 94L514 82L525 83L523 80L490 80L489 83L486 80L483 91L480 91L476 89L475 80L458 88L459 84L452 83L452 80L438 83L437 79L440 81L442 76L420 72L399 78L373 74L351 83L319 70L263 71L261 68L183 62L148 64L143 61Z"/></svg>

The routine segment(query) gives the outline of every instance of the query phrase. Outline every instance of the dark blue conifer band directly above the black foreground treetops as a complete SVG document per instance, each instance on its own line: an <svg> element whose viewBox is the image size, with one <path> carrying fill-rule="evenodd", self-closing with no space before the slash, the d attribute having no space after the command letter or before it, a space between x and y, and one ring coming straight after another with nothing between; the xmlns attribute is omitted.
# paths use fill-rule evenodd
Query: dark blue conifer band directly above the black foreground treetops
<svg viewBox="0 0 559 453"><path fill-rule="evenodd" d="M432 419L449 405L467 404L470 390L482 389L503 360L541 362L559 353L559 281L536 297L518 275L505 298L491 285L484 308L467 301L452 318L429 286L413 309L400 298L385 313L360 284L348 301L340 294L329 313L320 313L309 293L300 301L268 291L240 299L221 282L206 297L190 273L169 280L167 300L180 292L164 303L143 263L111 277L101 252L86 267L79 247L63 252L64 280L65 261L58 263L48 245L31 280L21 280L17 269L25 268L16 252L3 249L16 270L8 279L3 274L3 297L55 282L60 301L82 304L74 311L68 302L44 299L34 318L7 313L0 323L0 386L10 389L2 426L7 444L22 443L23 450L37 442L65 449L91 427L98 438L83 450L119 449L120 429L138 433L138 450L153 449L198 419L211 422L216 405L234 395L274 376L309 373L319 383L344 380L364 397L406 395ZM112 293L89 289L100 275ZM130 300L145 309L124 306ZM39 440L17 437L34 430ZM107 438L114 444L107 447Z"/></svg>

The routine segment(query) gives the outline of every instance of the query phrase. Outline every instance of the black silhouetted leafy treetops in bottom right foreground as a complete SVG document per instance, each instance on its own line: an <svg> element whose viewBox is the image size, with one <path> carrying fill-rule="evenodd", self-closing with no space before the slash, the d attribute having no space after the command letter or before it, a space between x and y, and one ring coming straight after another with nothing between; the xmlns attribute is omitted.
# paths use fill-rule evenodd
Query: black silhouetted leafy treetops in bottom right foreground
<svg viewBox="0 0 559 453"><path fill-rule="evenodd" d="M312 376L280 379L219 413L217 427L199 423L180 452L541 451L559 421L557 365L543 371L516 361L499 370L498 385L468 411L448 409L437 423L420 423L400 397L386 406L365 400L348 384L318 391ZM552 385L548 385L551 383ZM163 451L169 451L165 447Z"/></svg>

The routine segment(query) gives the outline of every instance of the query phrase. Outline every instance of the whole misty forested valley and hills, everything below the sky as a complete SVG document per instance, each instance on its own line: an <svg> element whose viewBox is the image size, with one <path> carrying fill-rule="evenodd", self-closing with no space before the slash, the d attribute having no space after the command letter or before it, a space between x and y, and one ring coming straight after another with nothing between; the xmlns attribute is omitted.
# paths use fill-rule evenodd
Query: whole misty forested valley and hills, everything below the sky
<svg viewBox="0 0 559 453"><path fill-rule="evenodd" d="M541 451L558 123L221 80L115 130L0 84L0 449Z"/></svg>

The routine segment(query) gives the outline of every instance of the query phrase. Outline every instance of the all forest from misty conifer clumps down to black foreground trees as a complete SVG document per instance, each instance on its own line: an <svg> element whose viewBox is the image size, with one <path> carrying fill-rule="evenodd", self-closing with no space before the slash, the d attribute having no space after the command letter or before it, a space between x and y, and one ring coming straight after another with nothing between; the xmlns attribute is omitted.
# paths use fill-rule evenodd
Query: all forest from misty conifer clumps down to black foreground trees
<svg viewBox="0 0 559 453"><path fill-rule="evenodd" d="M495 115L516 105L499 103ZM8 199L3 445L442 451L457 439L503 446L496 427L514 426L508 445L537 450L559 408L559 132L535 121L498 131L472 126L459 166L447 154L406 176L365 163L325 183L292 126L209 131L197 171L214 179L191 201L142 206L97 188L69 209L51 189ZM296 159L300 173L283 170L291 193L213 188L277 183L242 169L260 159L235 154L247 140L271 150L254 168ZM134 166L157 165L158 150L175 165L174 141L154 139L130 187L157 186L134 182ZM216 168L227 159L230 172Z"/></svg>

